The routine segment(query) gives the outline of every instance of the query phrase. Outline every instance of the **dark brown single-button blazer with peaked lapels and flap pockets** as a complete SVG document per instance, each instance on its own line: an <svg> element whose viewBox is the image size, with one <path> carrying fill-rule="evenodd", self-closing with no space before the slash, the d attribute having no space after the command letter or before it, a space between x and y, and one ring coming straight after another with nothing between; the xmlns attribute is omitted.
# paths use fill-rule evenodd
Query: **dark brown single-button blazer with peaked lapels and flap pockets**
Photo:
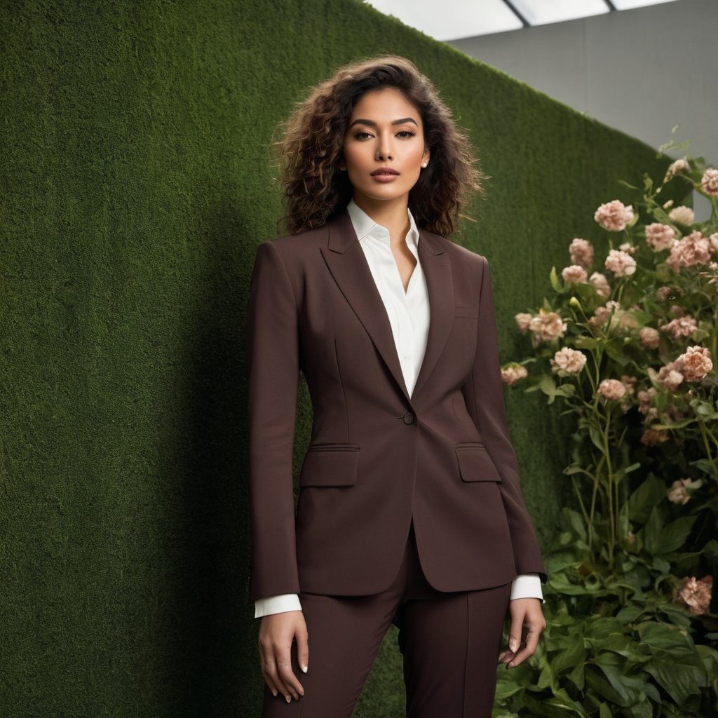
<svg viewBox="0 0 718 718"><path fill-rule="evenodd" d="M440 591L544 573L506 429L486 260L421 230L431 324L411 398L347 213L261 244L248 310L251 599L370 595L414 519ZM299 370L313 425L296 518Z"/></svg>

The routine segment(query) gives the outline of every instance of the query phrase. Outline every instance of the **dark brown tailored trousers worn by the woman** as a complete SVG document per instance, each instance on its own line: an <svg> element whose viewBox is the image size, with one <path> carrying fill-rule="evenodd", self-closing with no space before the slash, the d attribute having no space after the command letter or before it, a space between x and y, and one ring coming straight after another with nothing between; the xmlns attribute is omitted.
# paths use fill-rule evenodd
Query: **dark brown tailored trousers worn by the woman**
<svg viewBox="0 0 718 718"><path fill-rule="evenodd" d="M381 641L399 628L408 718L490 718L510 584L442 593L421 572L414 531L393 584L378 595L301 594L309 671L304 696L264 694L263 718L350 718Z"/></svg>

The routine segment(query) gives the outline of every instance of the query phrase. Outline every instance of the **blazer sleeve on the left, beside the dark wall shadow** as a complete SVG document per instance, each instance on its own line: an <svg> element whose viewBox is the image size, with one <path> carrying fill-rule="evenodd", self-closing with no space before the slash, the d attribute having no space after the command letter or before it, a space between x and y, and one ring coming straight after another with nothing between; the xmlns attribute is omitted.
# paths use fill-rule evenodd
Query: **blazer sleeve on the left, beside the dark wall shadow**
<svg viewBox="0 0 718 718"><path fill-rule="evenodd" d="M276 247L261 244L247 314L250 600L299 593L292 486L297 316L292 283Z"/></svg>

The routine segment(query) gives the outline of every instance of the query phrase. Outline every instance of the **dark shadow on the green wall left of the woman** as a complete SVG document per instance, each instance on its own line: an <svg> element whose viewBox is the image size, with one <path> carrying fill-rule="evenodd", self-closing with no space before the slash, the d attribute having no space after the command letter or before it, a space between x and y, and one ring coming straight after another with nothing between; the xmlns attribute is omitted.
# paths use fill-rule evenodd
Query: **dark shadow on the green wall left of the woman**
<svg viewBox="0 0 718 718"><path fill-rule="evenodd" d="M174 597L177 714L225 718L258 714L261 677L255 655L256 625L247 603L248 490L245 314L254 245L238 210L218 207L205 218L205 274L187 335L187 367L180 408L184 442L168 462L177 485L176 556L179 587ZM183 445L184 444L184 445ZM184 515L182 515L182 512Z"/></svg>

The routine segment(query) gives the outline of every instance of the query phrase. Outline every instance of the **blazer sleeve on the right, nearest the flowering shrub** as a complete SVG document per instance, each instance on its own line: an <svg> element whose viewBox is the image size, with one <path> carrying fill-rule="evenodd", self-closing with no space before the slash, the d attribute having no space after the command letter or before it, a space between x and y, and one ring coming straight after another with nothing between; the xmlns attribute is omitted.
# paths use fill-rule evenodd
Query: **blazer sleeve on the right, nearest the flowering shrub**
<svg viewBox="0 0 718 718"><path fill-rule="evenodd" d="M521 493L516 453L508 436L503 384L498 360L496 316L488 262L480 257L479 322L476 356L469 380L462 388L491 460L501 476L499 488L508 518L517 574L536 573L546 580L541 549Z"/></svg>

